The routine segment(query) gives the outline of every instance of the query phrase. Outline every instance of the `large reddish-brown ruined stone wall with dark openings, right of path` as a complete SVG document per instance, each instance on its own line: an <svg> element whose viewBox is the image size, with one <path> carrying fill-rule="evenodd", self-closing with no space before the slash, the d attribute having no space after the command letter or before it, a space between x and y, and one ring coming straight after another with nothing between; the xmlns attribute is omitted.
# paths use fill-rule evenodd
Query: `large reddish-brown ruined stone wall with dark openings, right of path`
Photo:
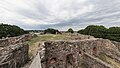
<svg viewBox="0 0 120 68"><path fill-rule="evenodd" d="M47 41L44 44L45 54L41 59L42 68L79 68L87 60L88 62L94 60L91 64L95 65L93 67L89 65L91 68L110 68L106 63L96 59L101 53L117 58L119 61L117 47L106 39ZM93 57L84 56L85 53Z"/></svg>

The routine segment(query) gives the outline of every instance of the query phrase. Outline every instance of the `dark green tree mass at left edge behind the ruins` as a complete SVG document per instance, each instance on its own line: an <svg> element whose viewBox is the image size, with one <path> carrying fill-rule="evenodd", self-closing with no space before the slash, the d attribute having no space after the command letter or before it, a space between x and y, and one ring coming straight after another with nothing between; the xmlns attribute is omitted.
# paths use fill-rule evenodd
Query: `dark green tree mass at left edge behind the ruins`
<svg viewBox="0 0 120 68"><path fill-rule="evenodd" d="M0 38L2 37L14 37L23 35L25 32L23 29L16 25L0 24Z"/></svg>

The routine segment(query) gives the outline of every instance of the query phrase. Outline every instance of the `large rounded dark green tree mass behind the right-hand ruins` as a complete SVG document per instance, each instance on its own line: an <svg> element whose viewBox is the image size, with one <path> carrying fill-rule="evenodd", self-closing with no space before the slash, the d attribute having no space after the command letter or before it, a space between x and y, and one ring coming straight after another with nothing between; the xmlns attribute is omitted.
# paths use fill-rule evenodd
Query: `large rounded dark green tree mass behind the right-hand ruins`
<svg viewBox="0 0 120 68"><path fill-rule="evenodd" d="M104 26L89 25L78 33L85 35L92 35L96 38L110 39L113 41L120 41L120 27L106 28Z"/></svg>

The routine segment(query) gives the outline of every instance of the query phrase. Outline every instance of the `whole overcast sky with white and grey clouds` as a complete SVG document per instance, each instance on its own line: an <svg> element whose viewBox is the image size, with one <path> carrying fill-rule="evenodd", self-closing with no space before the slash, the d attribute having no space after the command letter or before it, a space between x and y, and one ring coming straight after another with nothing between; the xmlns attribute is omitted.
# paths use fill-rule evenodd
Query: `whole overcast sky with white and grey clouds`
<svg viewBox="0 0 120 68"><path fill-rule="evenodd" d="M0 23L59 30L120 26L120 0L0 0Z"/></svg>

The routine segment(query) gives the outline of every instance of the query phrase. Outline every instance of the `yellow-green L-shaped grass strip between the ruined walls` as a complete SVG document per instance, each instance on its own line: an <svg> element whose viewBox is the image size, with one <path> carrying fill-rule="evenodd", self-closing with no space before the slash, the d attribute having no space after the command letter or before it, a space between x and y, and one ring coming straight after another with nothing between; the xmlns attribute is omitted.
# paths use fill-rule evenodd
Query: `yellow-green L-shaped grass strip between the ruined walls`
<svg viewBox="0 0 120 68"><path fill-rule="evenodd" d="M32 58L36 55L38 50L39 43L43 41L50 41L50 40L68 40L67 36L65 35L53 35L53 34L46 34L46 35L39 35L38 37L32 38L30 41L27 41L29 44L29 57Z"/></svg>

